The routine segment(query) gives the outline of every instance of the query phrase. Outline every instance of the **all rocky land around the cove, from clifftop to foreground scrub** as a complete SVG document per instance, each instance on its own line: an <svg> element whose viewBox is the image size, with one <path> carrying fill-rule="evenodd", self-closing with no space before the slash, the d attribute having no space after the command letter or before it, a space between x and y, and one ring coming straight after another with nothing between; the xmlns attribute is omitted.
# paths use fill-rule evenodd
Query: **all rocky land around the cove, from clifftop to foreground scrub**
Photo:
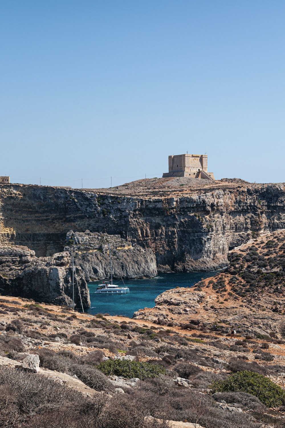
<svg viewBox="0 0 285 428"><path fill-rule="evenodd" d="M284 199L239 179L0 186L0 426L284 428ZM109 244L117 278L224 269L133 319L74 312L71 257L88 307Z"/></svg>

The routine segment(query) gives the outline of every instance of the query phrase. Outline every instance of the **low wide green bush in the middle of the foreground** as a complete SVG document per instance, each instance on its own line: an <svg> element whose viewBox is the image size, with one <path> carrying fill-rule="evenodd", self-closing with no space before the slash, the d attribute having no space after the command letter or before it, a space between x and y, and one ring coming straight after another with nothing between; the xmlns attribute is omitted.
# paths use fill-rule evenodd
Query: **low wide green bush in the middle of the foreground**
<svg viewBox="0 0 285 428"><path fill-rule="evenodd" d="M124 377L141 377L147 379L148 377L157 377L159 374L166 375L167 372L163 366L159 364L151 364L138 361L129 360L106 360L97 366L105 375L115 375Z"/></svg>

